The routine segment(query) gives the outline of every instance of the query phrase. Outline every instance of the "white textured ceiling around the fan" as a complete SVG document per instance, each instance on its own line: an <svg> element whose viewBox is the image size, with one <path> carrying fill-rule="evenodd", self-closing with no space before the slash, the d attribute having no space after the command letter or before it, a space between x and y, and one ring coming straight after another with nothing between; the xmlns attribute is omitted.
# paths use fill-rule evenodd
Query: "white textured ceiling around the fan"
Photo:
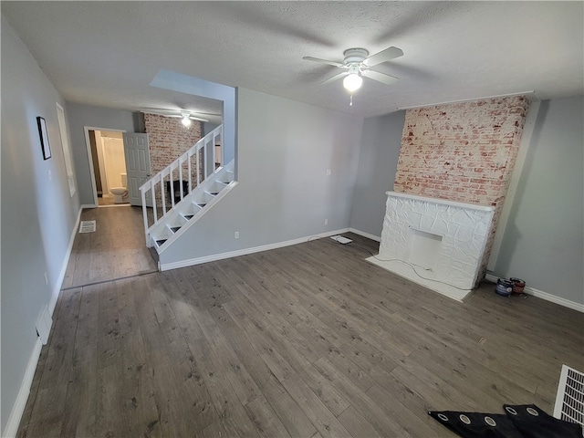
<svg viewBox="0 0 584 438"><path fill-rule="evenodd" d="M220 104L149 86L161 69L361 117L430 103L535 91L584 94L582 2L2 2L68 101L126 110L220 111ZM349 107L342 60L400 47ZM4 57L2 62L7 62Z"/></svg>

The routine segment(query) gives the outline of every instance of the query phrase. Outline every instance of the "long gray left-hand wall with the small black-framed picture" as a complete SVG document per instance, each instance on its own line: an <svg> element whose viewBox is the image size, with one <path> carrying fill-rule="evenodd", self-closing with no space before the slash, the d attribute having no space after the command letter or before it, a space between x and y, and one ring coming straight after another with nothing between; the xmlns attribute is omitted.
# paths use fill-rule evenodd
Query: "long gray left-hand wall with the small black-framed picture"
<svg viewBox="0 0 584 438"><path fill-rule="evenodd" d="M65 102L4 16L1 27L4 432L35 349L36 319L43 306L57 299L79 202L78 193L69 195L58 130L56 102L63 108ZM47 120L52 152L47 161L40 149L37 116Z"/></svg>

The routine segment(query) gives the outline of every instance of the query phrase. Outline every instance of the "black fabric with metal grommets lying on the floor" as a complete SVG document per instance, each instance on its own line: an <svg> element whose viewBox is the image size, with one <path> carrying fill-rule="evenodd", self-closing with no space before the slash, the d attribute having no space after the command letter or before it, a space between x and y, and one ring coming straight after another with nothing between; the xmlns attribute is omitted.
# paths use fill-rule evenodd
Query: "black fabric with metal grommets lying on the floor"
<svg viewBox="0 0 584 438"><path fill-rule="evenodd" d="M463 438L582 438L582 426L543 412L535 404L504 404L505 414L431 411L433 419Z"/></svg>

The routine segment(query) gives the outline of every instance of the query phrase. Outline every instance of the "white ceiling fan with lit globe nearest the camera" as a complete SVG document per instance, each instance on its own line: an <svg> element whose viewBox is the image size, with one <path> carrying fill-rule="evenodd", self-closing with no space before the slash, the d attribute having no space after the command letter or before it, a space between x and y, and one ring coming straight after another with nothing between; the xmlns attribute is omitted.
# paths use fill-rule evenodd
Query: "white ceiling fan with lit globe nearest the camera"
<svg viewBox="0 0 584 438"><path fill-rule="evenodd" d="M371 67L375 67L383 62L391 61L396 57L401 57L403 52L401 48L398 47L388 47L375 55L369 56L369 51L361 48L349 48L343 52L343 62L329 61L328 59L320 59L319 57L303 57L307 61L319 62L321 64L328 64L330 66L335 66L338 68L343 68L346 71L340 72L338 75L328 78L323 81L323 84L328 84L339 78L343 78L343 87L353 93L360 89L363 83L363 77L377 80L386 85L391 85L395 83L398 78L395 78L380 71L371 70Z"/></svg>

